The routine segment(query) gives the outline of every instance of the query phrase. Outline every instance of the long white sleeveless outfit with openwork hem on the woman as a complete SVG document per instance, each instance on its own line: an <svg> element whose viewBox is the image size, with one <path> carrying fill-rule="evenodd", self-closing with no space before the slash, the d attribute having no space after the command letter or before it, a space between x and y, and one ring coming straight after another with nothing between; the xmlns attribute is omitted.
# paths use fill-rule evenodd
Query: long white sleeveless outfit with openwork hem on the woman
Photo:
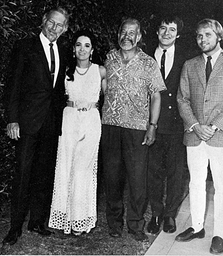
<svg viewBox="0 0 223 256"><path fill-rule="evenodd" d="M86 69L78 69L84 73ZM65 80L69 100L80 108L98 102L101 78L92 64L85 75L75 71L74 81ZM96 223L96 173L101 122L98 109L87 111L66 107L59 138L54 194L49 226L70 234L89 231Z"/></svg>

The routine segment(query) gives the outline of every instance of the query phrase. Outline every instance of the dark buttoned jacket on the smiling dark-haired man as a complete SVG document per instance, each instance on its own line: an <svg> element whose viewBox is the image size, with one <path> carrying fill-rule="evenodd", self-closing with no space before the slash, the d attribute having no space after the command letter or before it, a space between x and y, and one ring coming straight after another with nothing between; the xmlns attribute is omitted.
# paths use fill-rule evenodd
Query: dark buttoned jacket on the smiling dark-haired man
<svg viewBox="0 0 223 256"><path fill-rule="evenodd" d="M156 50L156 49L155 49ZM155 59L153 51L152 57ZM182 54L183 49L175 45L173 66L164 83L166 91L161 93L161 114L158 120L158 133L178 134L183 133L183 120L177 108L177 90L180 86L181 70L186 57Z"/></svg>

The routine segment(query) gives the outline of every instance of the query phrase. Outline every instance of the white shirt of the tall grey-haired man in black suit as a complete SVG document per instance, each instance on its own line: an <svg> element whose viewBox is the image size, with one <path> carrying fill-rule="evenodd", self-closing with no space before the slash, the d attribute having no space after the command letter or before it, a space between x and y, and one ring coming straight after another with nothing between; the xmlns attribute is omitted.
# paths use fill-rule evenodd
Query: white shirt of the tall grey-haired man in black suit
<svg viewBox="0 0 223 256"><path fill-rule="evenodd" d="M43 35L42 32L40 33L40 40L42 42L42 46L45 51L46 59L48 61L49 69L50 69L51 57L50 57L50 45L49 44L51 42ZM55 55L55 74L54 74L54 86L55 86L56 78L57 78L59 66L60 66L60 58L59 58L59 52L58 52L58 47L57 47L56 41L52 42L52 44L54 45L53 49L54 49L54 55Z"/></svg>

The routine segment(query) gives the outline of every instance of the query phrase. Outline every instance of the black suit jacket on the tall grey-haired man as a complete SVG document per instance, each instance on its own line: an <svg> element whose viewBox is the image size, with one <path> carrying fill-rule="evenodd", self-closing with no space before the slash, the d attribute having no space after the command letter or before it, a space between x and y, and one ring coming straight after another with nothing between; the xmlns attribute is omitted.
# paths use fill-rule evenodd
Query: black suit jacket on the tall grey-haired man
<svg viewBox="0 0 223 256"><path fill-rule="evenodd" d="M17 122L22 134L35 134L50 108L55 110L56 131L61 134L62 100L69 45L57 40L60 68L55 87L40 37L17 41L12 50L6 84L8 123Z"/></svg>

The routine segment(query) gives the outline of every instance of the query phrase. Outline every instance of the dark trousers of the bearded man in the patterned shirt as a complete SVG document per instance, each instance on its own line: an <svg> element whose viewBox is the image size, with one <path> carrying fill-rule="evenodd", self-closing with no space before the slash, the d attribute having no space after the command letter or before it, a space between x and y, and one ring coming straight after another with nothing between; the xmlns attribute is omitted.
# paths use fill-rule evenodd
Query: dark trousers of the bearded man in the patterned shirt
<svg viewBox="0 0 223 256"><path fill-rule="evenodd" d="M123 189L129 185L127 225L143 230L147 207L148 147L142 145L146 131L102 125L101 152L106 183L106 219L110 228L123 226Z"/></svg>

